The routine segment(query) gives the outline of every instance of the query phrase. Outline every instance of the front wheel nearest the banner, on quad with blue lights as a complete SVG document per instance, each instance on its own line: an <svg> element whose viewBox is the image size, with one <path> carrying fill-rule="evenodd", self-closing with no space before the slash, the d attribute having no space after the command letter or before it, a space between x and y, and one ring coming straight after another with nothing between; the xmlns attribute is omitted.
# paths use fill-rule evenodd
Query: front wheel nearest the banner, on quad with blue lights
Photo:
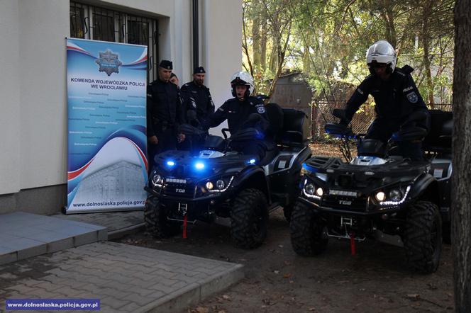
<svg viewBox="0 0 471 313"><path fill-rule="evenodd" d="M168 238L179 233L180 223L167 219L167 210L157 197L148 198L144 206L145 228L155 238Z"/></svg>

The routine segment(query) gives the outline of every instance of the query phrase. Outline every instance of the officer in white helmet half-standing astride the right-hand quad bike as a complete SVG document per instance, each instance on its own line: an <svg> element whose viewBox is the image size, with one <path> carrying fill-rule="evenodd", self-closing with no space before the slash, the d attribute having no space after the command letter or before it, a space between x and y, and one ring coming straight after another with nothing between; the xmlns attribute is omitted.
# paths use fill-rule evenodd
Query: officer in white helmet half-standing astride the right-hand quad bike
<svg viewBox="0 0 471 313"><path fill-rule="evenodd" d="M412 79L414 71L409 65L396 67L397 56L392 45L379 40L370 46L366 54L370 76L362 81L345 105L345 117L340 122L348 125L362 103L372 95L375 98L376 118L368 128L365 138L387 142L411 113L428 109ZM426 127L426 120L423 121ZM421 142L399 142L399 153L412 160L423 159Z"/></svg>

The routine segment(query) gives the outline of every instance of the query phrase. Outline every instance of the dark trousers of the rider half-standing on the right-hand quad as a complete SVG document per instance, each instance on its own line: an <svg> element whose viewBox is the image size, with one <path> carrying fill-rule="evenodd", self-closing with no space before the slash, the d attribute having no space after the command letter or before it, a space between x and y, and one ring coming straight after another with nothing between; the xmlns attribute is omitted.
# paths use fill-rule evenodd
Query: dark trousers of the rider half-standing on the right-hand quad
<svg viewBox="0 0 471 313"><path fill-rule="evenodd" d="M366 139L381 140L384 143L391 138L394 132L399 131L401 123L397 120L386 120L384 118L376 118L367 131ZM397 142L399 154L401 157L409 158L412 161L422 161L423 151L422 142Z"/></svg>

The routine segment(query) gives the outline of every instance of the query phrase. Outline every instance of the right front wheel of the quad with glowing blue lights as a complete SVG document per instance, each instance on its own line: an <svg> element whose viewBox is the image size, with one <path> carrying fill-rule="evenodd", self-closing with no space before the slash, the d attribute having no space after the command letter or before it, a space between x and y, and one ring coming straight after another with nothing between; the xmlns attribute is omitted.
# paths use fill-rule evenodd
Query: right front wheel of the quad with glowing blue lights
<svg viewBox="0 0 471 313"><path fill-rule="evenodd" d="M262 191L248 188L235 197L231 209L231 237L235 246L253 249L267 237L267 200Z"/></svg>

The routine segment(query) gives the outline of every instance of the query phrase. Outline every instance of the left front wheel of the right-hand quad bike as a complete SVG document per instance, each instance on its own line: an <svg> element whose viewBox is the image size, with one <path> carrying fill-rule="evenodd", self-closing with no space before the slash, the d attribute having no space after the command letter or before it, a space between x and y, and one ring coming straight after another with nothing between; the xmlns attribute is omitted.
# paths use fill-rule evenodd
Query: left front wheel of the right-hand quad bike
<svg viewBox="0 0 471 313"><path fill-rule="evenodd" d="M327 248L321 219L304 203L297 201L294 205L289 231L293 249L300 256L315 256Z"/></svg>

